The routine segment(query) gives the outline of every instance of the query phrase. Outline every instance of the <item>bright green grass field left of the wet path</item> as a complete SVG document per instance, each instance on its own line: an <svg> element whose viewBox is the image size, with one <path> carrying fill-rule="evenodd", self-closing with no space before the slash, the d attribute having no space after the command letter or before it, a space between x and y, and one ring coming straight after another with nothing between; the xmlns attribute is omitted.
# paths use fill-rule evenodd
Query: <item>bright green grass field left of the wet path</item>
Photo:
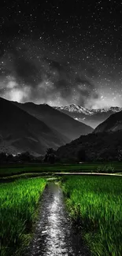
<svg viewBox="0 0 122 256"><path fill-rule="evenodd" d="M39 198L46 185L42 178L0 184L1 255L15 255L28 242Z"/></svg>

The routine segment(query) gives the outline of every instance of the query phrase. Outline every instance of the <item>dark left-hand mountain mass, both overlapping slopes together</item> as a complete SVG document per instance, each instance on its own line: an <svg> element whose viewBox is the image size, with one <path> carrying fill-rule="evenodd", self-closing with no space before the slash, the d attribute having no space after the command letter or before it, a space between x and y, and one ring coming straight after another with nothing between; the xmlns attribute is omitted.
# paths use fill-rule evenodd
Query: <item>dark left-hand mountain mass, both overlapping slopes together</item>
<svg viewBox="0 0 122 256"><path fill-rule="evenodd" d="M45 154L93 128L46 104L10 102L0 98L0 151Z"/></svg>

